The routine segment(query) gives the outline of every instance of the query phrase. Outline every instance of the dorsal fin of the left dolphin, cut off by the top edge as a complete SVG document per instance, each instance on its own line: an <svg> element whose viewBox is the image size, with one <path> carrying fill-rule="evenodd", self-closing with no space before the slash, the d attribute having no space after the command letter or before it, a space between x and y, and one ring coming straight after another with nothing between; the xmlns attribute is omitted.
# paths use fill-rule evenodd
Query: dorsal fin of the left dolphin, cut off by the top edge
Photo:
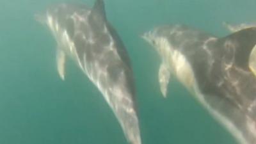
<svg viewBox="0 0 256 144"><path fill-rule="evenodd" d="M106 20L104 0L96 0L92 8L92 16L97 19Z"/></svg>

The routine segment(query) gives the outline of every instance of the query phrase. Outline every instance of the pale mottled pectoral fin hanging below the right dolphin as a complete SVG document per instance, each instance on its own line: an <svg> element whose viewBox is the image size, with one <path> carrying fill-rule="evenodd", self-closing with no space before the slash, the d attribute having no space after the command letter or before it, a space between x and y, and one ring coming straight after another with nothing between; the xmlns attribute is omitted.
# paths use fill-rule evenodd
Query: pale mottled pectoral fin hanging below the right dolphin
<svg viewBox="0 0 256 144"><path fill-rule="evenodd" d="M158 79L159 79L161 93L163 94L163 97L166 97L168 83L170 80L170 72L168 71L168 68L164 63L161 63L160 65Z"/></svg>

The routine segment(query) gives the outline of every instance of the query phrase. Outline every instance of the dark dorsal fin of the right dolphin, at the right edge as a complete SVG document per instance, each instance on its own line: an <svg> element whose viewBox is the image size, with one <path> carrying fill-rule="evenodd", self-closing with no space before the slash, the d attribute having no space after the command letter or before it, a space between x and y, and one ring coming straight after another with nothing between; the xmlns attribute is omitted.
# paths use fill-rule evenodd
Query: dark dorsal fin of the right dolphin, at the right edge
<svg viewBox="0 0 256 144"><path fill-rule="evenodd" d="M226 55L234 58L237 67L249 68L249 59L256 44L256 28L246 28L220 38Z"/></svg>

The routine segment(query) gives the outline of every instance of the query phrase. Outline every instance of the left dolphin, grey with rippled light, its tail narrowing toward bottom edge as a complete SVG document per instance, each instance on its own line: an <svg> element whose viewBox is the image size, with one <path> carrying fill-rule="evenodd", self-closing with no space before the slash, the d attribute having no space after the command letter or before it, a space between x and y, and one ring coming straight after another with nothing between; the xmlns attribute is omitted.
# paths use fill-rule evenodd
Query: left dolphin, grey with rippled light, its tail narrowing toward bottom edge
<svg viewBox="0 0 256 144"><path fill-rule="evenodd" d="M65 78L68 56L99 88L129 143L140 144L131 63L122 40L106 19L104 1L97 0L93 8L58 4L36 17L49 26L56 39L61 79Z"/></svg>

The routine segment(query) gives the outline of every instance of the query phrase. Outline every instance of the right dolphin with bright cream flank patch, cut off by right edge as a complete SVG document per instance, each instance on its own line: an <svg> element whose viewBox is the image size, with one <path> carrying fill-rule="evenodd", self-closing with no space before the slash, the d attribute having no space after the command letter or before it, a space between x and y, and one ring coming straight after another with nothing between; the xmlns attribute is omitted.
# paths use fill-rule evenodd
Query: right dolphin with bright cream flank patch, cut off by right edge
<svg viewBox="0 0 256 144"><path fill-rule="evenodd" d="M255 27L216 38L187 26L159 26L142 37L161 56L163 95L177 77L237 142L256 143Z"/></svg>

